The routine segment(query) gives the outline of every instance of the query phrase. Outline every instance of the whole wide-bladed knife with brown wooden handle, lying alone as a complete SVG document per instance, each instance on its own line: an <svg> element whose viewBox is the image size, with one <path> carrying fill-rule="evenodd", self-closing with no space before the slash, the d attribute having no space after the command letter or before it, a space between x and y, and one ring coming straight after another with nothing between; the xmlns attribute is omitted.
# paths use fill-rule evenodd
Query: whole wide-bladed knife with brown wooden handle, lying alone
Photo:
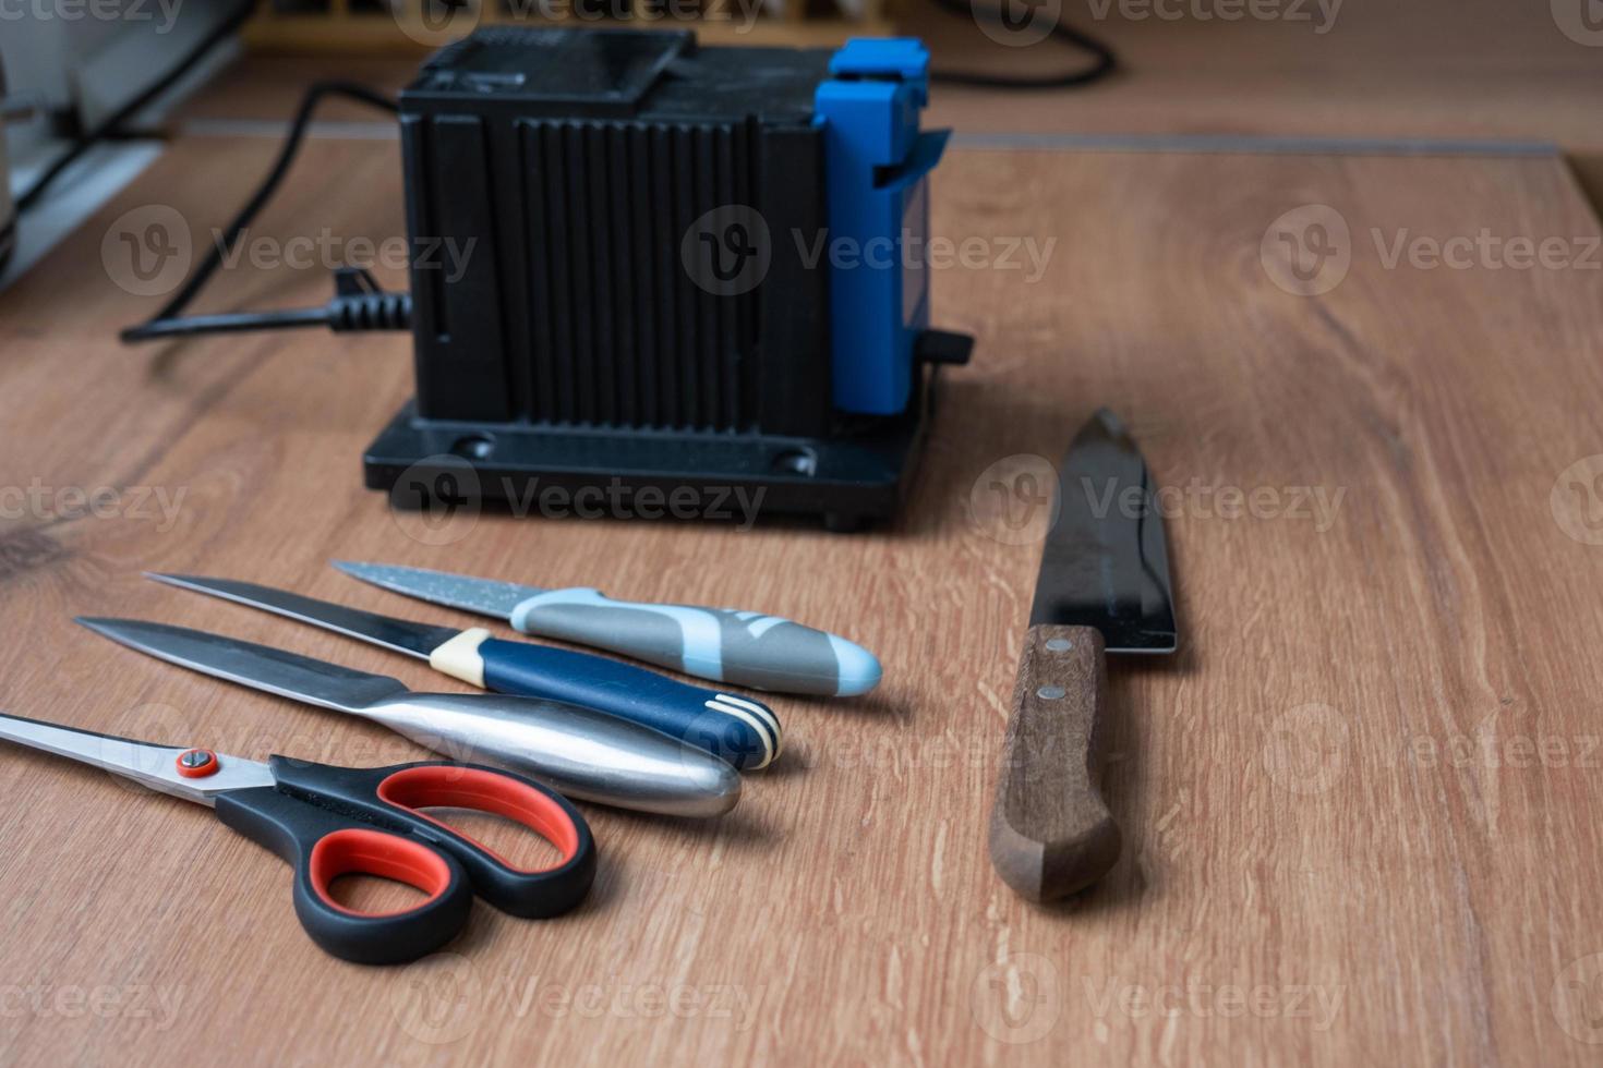
<svg viewBox="0 0 1603 1068"><path fill-rule="evenodd" d="M1146 461L1098 412L1058 471L991 812L991 863L1050 901L1096 882L1122 836L1096 786L1104 653L1177 647L1169 548Z"/></svg>

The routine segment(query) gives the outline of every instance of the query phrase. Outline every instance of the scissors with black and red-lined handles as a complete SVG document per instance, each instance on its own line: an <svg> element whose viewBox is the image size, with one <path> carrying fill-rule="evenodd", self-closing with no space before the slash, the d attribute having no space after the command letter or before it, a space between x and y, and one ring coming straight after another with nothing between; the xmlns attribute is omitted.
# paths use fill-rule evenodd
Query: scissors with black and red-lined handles
<svg viewBox="0 0 1603 1068"><path fill-rule="evenodd" d="M357 964L433 953L466 925L474 895L513 916L548 917L574 908L595 879L596 850L583 817L539 783L491 767L428 761L353 769L284 756L261 764L19 716L0 716L0 738L212 805L224 825L295 868L301 927L325 953ZM422 812L436 805L523 823L556 845L561 860L515 868ZM348 874L404 882L428 898L394 913L362 913L329 892Z"/></svg>

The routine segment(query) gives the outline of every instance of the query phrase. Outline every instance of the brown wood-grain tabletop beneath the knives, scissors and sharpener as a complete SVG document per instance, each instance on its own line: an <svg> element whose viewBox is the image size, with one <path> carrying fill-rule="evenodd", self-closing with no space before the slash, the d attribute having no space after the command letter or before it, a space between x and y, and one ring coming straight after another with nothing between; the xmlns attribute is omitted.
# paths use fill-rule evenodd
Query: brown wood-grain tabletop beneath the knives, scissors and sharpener
<svg viewBox="0 0 1603 1068"><path fill-rule="evenodd" d="M0 1060L1597 1063L1603 271L1560 160L955 152L938 234L1056 243L1036 280L935 272L941 325L979 343L898 525L458 516L430 544L359 480L410 389L406 339L112 339L157 303L119 283L125 213L165 205L200 245L274 149L180 141L0 295L0 708L256 759L425 757L71 623L180 621L433 684L139 578L468 621L330 557L761 607L870 645L885 684L774 698L787 754L725 820L588 805L579 911L478 906L390 970L314 950L285 866L202 809L8 748ZM396 151L309 143L256 234L398 234ZM1314 296L1274 231L1305 205L1350 232ZM1308 221L1339 237L1318 210L1286 226ZM1483 229L1573 264L1428 267L1412 243ZM245 263L204 306L327 285ZM1039 908L984 849L1039 559L987 471L1058 456L1098 405L1170 488L1185 642L1111 676L1124 858Z"/></svg>

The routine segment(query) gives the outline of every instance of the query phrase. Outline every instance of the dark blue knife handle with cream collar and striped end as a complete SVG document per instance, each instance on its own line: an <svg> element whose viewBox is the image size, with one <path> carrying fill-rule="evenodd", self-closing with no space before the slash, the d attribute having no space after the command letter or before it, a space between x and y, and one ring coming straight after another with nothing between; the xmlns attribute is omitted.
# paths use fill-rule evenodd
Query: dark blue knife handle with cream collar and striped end
<svg viewBox="0 0 1603 1068"><path fill-rule="evenodd" d="M567 648L505 642L473 628L430 653L430 666L497 693L582 705L628 719L723 757L766 767L782 745L766 705L678 682L656 671Z"/></svg>

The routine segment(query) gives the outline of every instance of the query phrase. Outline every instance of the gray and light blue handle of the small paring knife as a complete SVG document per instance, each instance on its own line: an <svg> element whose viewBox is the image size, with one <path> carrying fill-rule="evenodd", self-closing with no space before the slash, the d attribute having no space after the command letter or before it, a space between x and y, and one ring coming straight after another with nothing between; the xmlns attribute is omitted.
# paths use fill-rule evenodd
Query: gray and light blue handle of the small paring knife
<svg viewBox="0 0 1603 1068"><path fill-rule="evenodd" d="M758 690L851 697L880 682L880 661L861 645L757 612L636 604L574 588L529 597L508 621L524 634Z"/></svg>

